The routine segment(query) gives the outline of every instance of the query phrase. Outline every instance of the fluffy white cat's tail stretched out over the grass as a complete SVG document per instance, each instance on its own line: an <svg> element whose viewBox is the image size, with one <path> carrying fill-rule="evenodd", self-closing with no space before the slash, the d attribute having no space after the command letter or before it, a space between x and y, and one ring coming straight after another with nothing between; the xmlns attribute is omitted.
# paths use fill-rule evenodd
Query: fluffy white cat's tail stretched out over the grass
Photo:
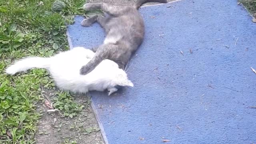
<svg viewBox="0 0 256 144"><path fill-rule="evenodd" d="M50 67L50 58L41 58L41 57L28 57L18 60L8 68L6 68L6 73L14 75L17 72L24 72L31 68L49 68Z"/></svg>

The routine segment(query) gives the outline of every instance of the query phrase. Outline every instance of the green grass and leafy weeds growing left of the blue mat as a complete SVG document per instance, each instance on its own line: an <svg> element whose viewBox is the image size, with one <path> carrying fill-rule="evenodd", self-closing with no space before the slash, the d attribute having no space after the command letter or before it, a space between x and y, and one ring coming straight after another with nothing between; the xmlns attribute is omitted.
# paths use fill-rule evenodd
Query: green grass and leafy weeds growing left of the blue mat
<svg viewBox="0 0 256 144"><path fill-rule="evenodd" d="M85 14L84 0L63 0L66 7L53 12L54 0L0 0L0 143L32 144L46 89L54 89L49 73L34 69L9 76L6 66L24 56L52 56L68 50L66 24L74 14ZM76 116L83 106L68 92L56 91L53 105L64 116Z"/></svg>

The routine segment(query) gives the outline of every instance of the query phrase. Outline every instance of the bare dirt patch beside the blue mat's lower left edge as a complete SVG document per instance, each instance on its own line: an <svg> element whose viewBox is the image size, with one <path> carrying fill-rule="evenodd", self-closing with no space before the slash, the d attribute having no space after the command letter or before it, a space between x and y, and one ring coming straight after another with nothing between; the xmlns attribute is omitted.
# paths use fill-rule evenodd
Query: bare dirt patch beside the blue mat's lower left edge
<svg viewBox="0 0 256 144"><path fill-rule="evenodd" d="M78 95L75 99L86 107L73 118L64 118L59 112L49 113L44 104L38 105L43 116L35 136L37 144L104 144L88 98Z"/></svg>

